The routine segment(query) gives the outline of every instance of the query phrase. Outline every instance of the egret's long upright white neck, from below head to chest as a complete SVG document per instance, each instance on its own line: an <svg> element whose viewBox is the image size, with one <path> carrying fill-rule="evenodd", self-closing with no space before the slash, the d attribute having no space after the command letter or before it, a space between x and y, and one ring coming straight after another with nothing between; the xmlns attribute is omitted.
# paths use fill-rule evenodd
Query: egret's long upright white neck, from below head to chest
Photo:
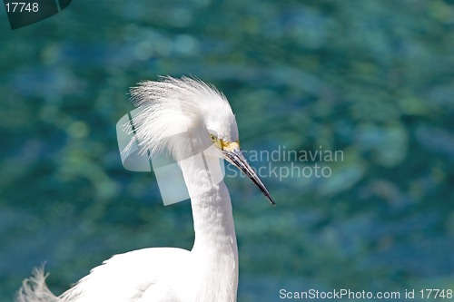
<svg viewBox="0 0 454 302"><path fill-rule="evenodd" d="M198 154L181 161L189 190L195 242L191 251L193 278L198 283L196 301L236 301L238 247L232 217L232 203L222 180L218 158Z"/></svg>

